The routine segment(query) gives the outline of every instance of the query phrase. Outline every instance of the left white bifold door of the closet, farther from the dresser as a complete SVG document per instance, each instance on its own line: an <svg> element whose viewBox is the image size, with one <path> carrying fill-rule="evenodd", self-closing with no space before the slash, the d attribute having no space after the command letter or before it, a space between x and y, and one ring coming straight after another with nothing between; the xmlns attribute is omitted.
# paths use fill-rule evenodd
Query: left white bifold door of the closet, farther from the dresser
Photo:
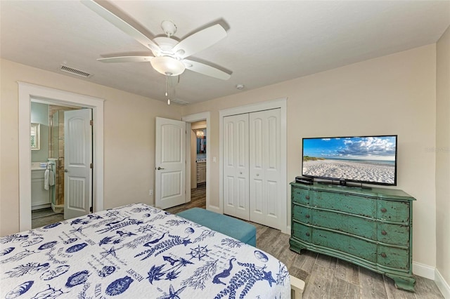
<svg viewBox="0 0 450 299"><path fill-rule="evenodd" d="M248 114L224 117L224 213L249 220Z"/></svg>

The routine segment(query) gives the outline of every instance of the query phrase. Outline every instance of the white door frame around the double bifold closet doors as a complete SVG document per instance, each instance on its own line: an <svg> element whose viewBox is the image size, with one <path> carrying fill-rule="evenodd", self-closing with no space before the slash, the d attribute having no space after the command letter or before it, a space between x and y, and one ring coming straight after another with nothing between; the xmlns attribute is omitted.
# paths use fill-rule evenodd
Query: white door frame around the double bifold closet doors
<svg viewBox="0 0 450 299"><path fill-rule="evenodd" d="M235 114L243 114L250 112L258 112L262 110L277 109L280 108L281 116L281 133L280 133L280 145L281 145L281 185L285 186L282 198L285 201L281 203L281 232L290 234L290 225L288 224L288 180L287 180L287 105L288 98L279 98L276 100L268 100L265 102L257 102L249 105L233 107L229 109L219 110L219 207L217 207L218 213L224 213L224 117L228 117Z"/></svg>

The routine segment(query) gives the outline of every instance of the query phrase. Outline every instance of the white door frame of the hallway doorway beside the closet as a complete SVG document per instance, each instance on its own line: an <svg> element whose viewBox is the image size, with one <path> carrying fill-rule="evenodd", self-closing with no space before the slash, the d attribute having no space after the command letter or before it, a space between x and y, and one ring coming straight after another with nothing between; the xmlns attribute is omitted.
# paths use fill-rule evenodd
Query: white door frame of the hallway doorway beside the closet
<svg viewBox="0 0 450 299"><path fill-rule="evenodd" d="M195 121L205 121L206 120L206 129L207 132L211 132L211 120L210 120L210 112L200 112L196 114L186 115L181 117L182 121L186 121L186 132L191 132L191 123ZM208 133L210 134L210 133ZM211 197L210 197L210 166L211 159L208 154L208 150L206 151L206 209L210 211L219 211L218 206L211 205ZM191 133L186 134L186 202L191 201Z"/></svg>

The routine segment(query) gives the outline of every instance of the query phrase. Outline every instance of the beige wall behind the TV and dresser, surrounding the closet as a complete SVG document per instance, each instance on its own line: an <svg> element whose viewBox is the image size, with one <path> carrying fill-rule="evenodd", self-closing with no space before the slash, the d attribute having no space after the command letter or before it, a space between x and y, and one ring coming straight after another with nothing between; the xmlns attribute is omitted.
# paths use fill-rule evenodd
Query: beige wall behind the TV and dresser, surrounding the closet
<svg viewBox="0 0 450 299"><path fill-rule="evenodd" d="M211 112L208 155L219 157L220 109L287 97L288 180L301 173L302 137L399 135L397 188L417 199L413 260L435 267L435 77L435 45L423 46L191 105L184 114ZM215 205L219 163L210 170Z"/></svg>

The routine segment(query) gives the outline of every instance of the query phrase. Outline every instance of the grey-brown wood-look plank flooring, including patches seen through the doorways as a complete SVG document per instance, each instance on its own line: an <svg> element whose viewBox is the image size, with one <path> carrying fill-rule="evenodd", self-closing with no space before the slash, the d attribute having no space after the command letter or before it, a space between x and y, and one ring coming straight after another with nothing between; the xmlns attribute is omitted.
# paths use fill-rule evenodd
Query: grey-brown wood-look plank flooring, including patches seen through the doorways
<svg viewBox="0 0 450 299"><path fill-rule="evenodd" d="M173 208L170 213L179 213L188 208L206 207L206 187L199 185L191 190L191 202ZM49 211L33 212L32 226L41 227L63 220L62 214ZM304 299L318 298L373 298L373 299L435 299L444 298L435 281L416 277L416 292L402 291L394 286L394 281L382 274L371 272L352 263L331 258L328 255L302 251L295 253L289 249L289 235L271 227L250 222L257 227L257 248L281 260L294 277L302 279Z"/></svg>

